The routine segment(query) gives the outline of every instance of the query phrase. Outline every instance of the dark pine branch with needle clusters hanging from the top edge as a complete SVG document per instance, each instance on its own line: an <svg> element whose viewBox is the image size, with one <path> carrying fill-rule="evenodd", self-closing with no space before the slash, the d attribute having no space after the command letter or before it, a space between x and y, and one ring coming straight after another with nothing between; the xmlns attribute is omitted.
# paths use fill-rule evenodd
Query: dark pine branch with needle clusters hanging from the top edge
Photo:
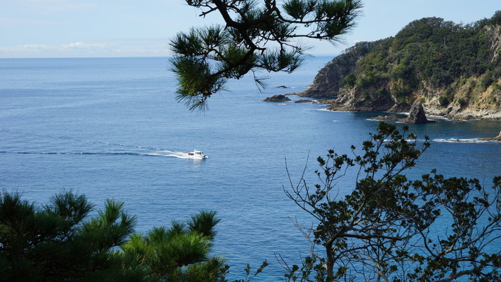
<svg viewBox="0 0 501 282"><path fill-rule="evenodd" d="M169 43L171 70L178 80L177 100L190 110L204 109L210 95L224 90L230 78L252 72L291 73L310 47L300 39L340 42L355 25L360 0L186 0L200 16L218 11L225 26L191 28ZM307 28L307 29L305 29ZM309 29L309 31L308 31ZM306 30L306 31L305 31Z"/></svg>

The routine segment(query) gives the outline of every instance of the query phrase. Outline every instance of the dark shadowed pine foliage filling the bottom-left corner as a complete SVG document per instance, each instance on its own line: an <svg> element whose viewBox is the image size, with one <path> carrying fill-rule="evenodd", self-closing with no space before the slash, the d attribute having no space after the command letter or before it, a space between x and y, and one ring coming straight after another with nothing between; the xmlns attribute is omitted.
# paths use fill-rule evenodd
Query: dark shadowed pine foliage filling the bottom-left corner
<svg viewBox="0 0 501 282"><path fill-rule="evenodd" d="M114 248L125 242L136 218L123 210L122 202L108 200L98 216L85 221L93 207L71 191L58 193L46 206L4 191L0 276L8 281L85 280L87 273L119 268Z"/></svg>

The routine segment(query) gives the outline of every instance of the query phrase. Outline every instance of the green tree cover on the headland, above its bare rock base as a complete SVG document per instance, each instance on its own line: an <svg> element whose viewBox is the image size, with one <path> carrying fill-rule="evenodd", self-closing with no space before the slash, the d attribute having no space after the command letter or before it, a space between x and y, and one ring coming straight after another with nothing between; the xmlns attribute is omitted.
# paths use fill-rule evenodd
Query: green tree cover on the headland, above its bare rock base
<svg viewBox="0 0 501 282"><path fill-rule="evenodd" d="M339 86L340 95L355 90L363 99L377 100L391 94L395 102L411 103L419 98L427 101L421 90L432 89L442 107L452 102L499 106L500 41L501 11L466 25L423 18L394 37L346 49L319 72L315 82L331 72L329 83Z"/></svg>

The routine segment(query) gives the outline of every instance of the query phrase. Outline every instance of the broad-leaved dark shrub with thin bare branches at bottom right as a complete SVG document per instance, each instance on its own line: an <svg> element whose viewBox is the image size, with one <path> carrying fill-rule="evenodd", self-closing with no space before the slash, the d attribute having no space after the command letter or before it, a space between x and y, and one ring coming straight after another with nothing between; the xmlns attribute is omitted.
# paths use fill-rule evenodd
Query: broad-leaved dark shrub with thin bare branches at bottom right
<svg viewBox="0 0 501 282"><path fill-rule="evenodd" d="M301 177L284 188L318 222L297 224L312 248L301 267L284 264L288 281L501 280L501 177L489 189L435 170L410 181L405 171L430 144L407 130L381 122L362 156L329 150L317 159L320 184L310 188ZM352 167L353 191L339 196L336 184Z"/></svg>

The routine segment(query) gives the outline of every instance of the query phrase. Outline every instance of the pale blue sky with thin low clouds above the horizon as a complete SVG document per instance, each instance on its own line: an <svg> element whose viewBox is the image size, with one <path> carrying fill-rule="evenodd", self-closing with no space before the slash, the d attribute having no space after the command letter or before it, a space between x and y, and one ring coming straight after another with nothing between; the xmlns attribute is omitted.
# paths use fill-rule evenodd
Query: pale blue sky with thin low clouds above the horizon
<svg viewBox="0 0 501 282"><path fill-rule="evenodd" d="M413 20L455 23L490 18L499 0L365 0L345 45L310 40L311 54L339 54L358 41L394 36ZM0 58L170 56L169 39L192 26L222 24L202 18L183 0L0 0Z"/></svg>

